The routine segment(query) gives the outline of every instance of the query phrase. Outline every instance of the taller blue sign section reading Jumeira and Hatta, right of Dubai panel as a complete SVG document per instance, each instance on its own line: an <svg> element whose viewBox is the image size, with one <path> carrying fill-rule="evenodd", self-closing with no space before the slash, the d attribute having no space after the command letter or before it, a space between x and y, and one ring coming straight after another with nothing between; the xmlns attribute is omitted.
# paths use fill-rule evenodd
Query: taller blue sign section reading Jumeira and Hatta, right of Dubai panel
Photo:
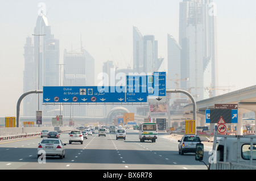
<svg viewBox="0 0 256 181"><path fill-rule="evenodd" d="M166 97L166 74L127 75L126 102L148 102L148 99L161 100ZM165 99L166 100L166 99Z"/></svg>

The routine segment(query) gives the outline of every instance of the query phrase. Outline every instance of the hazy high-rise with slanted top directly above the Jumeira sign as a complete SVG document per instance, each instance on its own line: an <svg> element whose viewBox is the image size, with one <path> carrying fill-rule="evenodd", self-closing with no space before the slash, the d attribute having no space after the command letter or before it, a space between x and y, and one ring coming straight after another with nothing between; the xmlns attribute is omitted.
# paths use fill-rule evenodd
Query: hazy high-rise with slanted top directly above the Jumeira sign
<svg viewBox="0 0 256 181"><path fill-rule="evenodd" d="M158 58L158 41L154 35L142 36L137 27L133 27L133 71L152 74L158 71L163 58Z"/></svg>

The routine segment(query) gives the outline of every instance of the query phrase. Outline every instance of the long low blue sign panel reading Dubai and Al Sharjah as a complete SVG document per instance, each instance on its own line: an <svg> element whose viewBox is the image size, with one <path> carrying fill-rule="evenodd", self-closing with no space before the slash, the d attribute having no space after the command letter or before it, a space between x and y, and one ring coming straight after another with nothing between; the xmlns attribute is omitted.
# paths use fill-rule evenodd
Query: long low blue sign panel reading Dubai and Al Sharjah
<svg viewBox="0 0 256 181"><path fill-rule="evenodd" d="M122 89L123 88L123 89ZM125 87L44 86L43 103L124 103Z"/></svg>

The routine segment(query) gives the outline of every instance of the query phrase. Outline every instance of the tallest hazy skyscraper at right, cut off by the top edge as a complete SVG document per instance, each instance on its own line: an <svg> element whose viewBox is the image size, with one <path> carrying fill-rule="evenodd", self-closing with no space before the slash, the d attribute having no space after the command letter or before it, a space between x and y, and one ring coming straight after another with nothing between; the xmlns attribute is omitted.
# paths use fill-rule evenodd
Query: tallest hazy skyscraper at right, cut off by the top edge
<svg viewBox="0 0 256 181"><path fill-rule="evenodd" d="M205 87L217 85L216 17L212 8L212 0L180 2L180 78L189 78L181 87L187 87L196 100L209 98Z"/></svg>

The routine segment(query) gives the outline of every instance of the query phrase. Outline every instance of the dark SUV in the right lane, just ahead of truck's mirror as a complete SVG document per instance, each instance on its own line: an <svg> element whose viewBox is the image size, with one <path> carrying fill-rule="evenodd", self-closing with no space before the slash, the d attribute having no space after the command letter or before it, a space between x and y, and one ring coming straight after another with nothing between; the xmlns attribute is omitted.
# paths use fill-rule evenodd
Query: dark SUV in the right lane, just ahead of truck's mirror
<svg viewBox="0 0 256 181"><path fill-rule="evenodd" d="M184 153L196 153L196 144L201 142L200 137L197 135L184 135L181 140L178 140L179 144L179 154Z"/></svg>

